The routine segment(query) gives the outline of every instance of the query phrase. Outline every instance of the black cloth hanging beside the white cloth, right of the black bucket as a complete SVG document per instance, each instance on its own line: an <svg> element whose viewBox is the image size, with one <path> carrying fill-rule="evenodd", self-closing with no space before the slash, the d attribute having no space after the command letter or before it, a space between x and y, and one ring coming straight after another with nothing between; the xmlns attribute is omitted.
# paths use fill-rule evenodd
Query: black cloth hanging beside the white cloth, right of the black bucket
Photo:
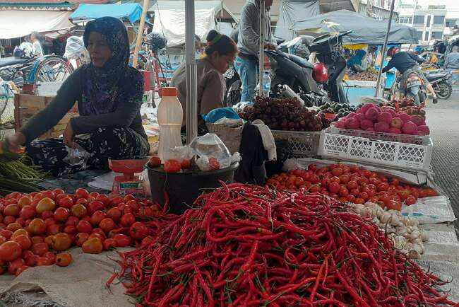
<svg viewBox="0 0 459 307"><path fill-rule="evenodd" d="M268 160L268 151L263 147L260 130L254 124L244 125L239 154L241 154L242 161L234 172L234 180L238 183L264 185L265 161Z"/></svg>

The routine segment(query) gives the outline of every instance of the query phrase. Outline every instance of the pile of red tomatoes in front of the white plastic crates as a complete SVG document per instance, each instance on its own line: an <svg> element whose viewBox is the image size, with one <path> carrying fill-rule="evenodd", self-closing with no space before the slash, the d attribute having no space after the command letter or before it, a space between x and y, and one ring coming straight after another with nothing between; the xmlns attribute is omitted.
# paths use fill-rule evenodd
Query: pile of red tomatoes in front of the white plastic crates
<svg viewBox="0 0 459 307"><path fill-rule="evenodd" d="M342 163L322 168L310 164L307 170L290 170L273 175L266 184L278 190L305 188L330 195L340 202L374 202L394 210L400 210L403 203L409 206L415 204L418 198L437 195L430 187L404 185L397 178L387 178L371 170Z"/></svg>

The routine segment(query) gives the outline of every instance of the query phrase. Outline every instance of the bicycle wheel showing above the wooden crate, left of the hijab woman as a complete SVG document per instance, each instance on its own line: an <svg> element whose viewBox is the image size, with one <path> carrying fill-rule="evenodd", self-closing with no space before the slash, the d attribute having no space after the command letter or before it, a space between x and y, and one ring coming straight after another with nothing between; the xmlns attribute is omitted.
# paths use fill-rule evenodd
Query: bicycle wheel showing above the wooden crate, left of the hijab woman
<svg viewBox="0 0 459 307"><path fill-rule="evenodd" d="M73 66L64 58L49 57L39 64L35 72L35 86L44 82L64 81L73 71Z"/></svg>

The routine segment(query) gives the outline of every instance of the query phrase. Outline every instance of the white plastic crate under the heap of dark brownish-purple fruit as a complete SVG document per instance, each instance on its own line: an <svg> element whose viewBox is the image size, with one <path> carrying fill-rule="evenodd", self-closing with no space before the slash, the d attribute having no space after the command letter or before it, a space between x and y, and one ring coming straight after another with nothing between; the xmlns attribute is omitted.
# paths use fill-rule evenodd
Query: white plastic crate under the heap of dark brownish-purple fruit
<svg viewBox="0 0 459 307"><path fill-rule="evenodd" d="M299 132L271 130L275 140L288 141L295 158L310 158L317 155L321 132Z"/></svg>

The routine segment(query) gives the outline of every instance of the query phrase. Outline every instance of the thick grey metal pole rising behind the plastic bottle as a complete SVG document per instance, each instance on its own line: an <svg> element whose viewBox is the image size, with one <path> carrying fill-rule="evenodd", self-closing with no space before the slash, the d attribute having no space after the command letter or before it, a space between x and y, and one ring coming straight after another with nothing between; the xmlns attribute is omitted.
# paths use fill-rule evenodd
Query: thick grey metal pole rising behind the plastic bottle
<svg viewBox="0 0 459 307"><path fill-rule="evenodd" d="M198 136L198 77L196 74L196 42L194 37L194 0L185 1L186 52L186 144Z"/></svg>

